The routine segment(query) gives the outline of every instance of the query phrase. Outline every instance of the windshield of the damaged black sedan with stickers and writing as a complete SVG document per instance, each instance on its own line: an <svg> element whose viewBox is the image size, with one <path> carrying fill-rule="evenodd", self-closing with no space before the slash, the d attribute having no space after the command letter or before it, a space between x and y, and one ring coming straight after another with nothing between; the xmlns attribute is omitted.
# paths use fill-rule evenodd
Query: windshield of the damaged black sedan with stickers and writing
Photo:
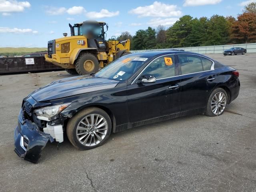
<svg viewBox="0 0 256 192"><path fill-rule="evenodd" d="M141 56L123 56L104 67L95 76L112 80L127 80L146 60L148 58Z"/></svg>

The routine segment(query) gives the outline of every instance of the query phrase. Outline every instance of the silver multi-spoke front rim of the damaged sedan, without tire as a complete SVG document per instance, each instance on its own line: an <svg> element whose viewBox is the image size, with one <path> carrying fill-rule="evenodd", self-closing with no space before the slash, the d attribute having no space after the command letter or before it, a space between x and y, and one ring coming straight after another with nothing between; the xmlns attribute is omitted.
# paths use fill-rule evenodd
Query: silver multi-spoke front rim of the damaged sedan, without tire
<svg viewBox="0 0 256 192"><path fill-rule="evenodd" d="M95 146L106 137L107 132L106 119L99 114L90 114L78 123L76 138L84 146Z"/></svg>

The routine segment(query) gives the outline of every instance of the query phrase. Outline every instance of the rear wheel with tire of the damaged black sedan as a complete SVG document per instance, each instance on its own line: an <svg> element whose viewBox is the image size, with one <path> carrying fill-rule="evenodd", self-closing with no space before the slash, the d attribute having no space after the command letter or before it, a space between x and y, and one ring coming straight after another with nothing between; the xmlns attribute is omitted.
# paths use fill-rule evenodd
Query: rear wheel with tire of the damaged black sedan
<svg viewBox="0 0 256 192"><path fill-rule="evenodd" d="M216 88L209 96L205 115L213 117L222 115L228 104L228 95L222 88Z"/></svg>

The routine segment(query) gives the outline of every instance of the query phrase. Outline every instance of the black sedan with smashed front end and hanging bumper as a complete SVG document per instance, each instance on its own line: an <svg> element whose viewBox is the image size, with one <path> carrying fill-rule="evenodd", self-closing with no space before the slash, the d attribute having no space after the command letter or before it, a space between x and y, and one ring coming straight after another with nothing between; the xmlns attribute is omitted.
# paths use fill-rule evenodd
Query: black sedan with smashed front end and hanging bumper
<svg viewBox="0 0 256 192"><path fill-rule="evenodd" d="M239 94L238 76L192 52L123 56L96 74L58 80L24 98L15 152L37 162L48 140L62 142L63 132L87 150L112 132L189 114L219 116Z"/></svg>

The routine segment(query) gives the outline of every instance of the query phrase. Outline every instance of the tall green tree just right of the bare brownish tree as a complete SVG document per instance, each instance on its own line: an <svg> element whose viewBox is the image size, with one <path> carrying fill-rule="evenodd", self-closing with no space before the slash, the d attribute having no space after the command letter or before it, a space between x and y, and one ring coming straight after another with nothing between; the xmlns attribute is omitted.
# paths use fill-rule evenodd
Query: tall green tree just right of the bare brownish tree
<svg viewBox="0 0 256 192"><path fill-rule="evenodd" d="M186 38L192 30L192 16L182 16L166 32L169 47L190 46Z"/></svg>

